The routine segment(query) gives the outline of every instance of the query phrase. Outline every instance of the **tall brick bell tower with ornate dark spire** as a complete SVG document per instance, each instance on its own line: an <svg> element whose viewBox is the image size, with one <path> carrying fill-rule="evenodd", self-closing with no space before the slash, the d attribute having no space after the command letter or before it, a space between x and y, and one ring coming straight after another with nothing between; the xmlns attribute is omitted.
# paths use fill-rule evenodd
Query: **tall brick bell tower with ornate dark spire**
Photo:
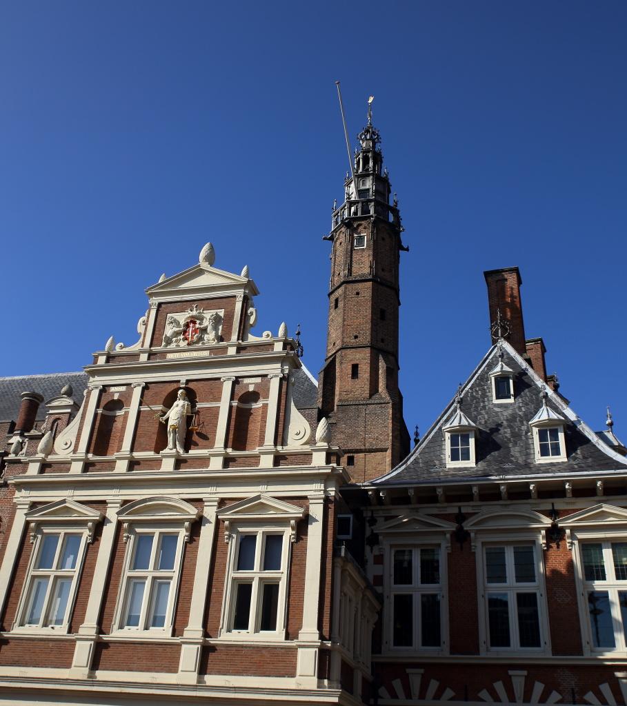
<svg viewBox="0 0 627 706"><path fill-rule="evenodd" d="M325 365L318 395L340 462L358 483L394 467L410 446L398 389L398 265L403 230L381 138L368 123L359 133L354 180L333 210ZM354 184L354 181L357 184ZM356 188L357 186L357 188Z"/></svg>

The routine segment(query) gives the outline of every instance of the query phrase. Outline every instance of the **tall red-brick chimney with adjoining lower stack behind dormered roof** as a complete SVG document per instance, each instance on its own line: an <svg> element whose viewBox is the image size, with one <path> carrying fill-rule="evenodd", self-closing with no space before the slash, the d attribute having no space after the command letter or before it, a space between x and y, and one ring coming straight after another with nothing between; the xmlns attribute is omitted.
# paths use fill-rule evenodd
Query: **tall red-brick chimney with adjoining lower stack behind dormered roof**
<svg viewBox="0 0 627 706"><path fill-rule="evenodd" d="M522 321L522 302L520 301L520 272L517 267L507 267L501 270L488 270L484 272L486 285L488 285L488 306L490 311L490 325L496 322L498 312L501 320L508 324L509 332L503 337L513 346L523 358L527 359L537 375L542 380L547 380L547 366L544 363L544 347L542 338L525 338L525 323ZM492 342L496 342L494 331Z"/></svg>

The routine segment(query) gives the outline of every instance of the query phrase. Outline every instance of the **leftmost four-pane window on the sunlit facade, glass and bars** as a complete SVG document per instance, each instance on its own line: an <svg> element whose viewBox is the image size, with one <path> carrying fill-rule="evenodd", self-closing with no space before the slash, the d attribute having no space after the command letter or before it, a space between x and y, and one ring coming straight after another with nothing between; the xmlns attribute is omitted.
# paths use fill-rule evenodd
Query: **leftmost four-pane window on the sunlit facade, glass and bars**
<svg viewBox="0 0 627 706"><path fill-rule="evenodd" d="M85 535L80 533L46 531L40 534L25 582L21 626L59 628L67 625L78 579L78 560L84 546Z"/></svg>

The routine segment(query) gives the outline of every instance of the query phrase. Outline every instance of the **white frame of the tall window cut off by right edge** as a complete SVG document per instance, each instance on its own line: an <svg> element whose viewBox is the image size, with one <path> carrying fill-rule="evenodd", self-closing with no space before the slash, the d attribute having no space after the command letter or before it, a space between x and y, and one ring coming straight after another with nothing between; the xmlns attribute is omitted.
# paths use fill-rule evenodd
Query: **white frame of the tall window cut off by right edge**
<svg viewBox="0 0 627 706"><path fill-rule="evenodd" d="M579 514L579 513L578 513ZM572 542L571 546L573 551L573 563L575 565L575 580L577 583L577 594L579 602L579 618L581 623L581 633L584 654L588 656L594 655L595 657L616 657L617 655L627 655L627 640L623 634L623 625L621 623L620 617L620 606L618 605L618 592L619 590L627 591L627 581L621 582L620 580L614 579L614 561L611 557L611 545L616 542L627 542L627 527L621 527L617 530L609 530L609 532L602 532L599 530L586 530L573 529L570 536ZM581 544L602 544L603 556L606 572L605 581L587 581L585 580L585 573L583 567L583 549ZM609 549L607 551L606 549ZM609 554L609 564L608 564L608 554ZM611 570L612 578L609 579ZM610 609L612 624L614 627L614 642L616 647L595 647L592 640L592 626L590 624L590 614L587 605L587 592L590 590L597 591L607 591L609 592L610 599Z"/></svg>

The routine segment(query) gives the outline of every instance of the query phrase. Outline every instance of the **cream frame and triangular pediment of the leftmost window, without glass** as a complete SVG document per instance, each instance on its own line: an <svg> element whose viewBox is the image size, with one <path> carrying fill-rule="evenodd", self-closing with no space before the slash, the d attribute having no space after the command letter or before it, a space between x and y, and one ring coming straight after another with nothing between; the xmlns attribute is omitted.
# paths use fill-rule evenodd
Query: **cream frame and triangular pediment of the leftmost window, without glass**
<svg viewBox="0 0 627 706"><path fill-rule="evenodd" d="M74 611L74 604L76 602L78 585L80 584L80 576L83 573L87 545L93 541L95 527L97 523L102 520L102 517L102 513L71 500L48 503L47 505L35 508L35 510L30 510L26 513L25 520L27 524L30 525L30 542L33 544L33 547L28 561L28 568L18 602L18 608L16 610L16 617L13 621L13 626L11 626L12 631L16 633L44 633L47 635L68 633ZM76 563L73 569L36 568L40 553L43 549L44 539L50 534L59 535L53 567L56 566L56 563L58 563L61 557L61 551L64 547L66 537L68 535L80 537L80 544L76 552ZM27 625L25 621L28 609L30 608L32 584L37 578L43 578L44 576L49 578L49 582L44 597L40 620L37 625ZM52 609L52 587L59 578L71 578L72 582L68 592L63 622L58 626L52 626L45 623Z"/></svg>

